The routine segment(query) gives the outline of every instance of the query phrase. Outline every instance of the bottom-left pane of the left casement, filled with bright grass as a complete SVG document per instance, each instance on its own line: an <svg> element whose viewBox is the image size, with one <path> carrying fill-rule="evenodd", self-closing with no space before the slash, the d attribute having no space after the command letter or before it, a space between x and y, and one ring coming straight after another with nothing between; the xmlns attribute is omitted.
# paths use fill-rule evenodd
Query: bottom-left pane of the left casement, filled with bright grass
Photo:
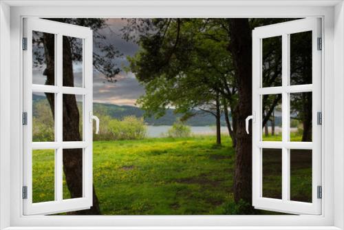
<svg viewBox="0 0 344 230"><path fill-rule="evenodd" d="M32 150L32 202L55 200L55 150Z"/></svg>

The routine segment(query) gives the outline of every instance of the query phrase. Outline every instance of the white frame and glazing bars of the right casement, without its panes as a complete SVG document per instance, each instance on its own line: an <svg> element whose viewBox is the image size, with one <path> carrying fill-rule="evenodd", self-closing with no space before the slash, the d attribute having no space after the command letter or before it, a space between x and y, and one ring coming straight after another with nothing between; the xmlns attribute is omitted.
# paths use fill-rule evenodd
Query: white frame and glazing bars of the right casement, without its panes
<svg viewBox="0 0 344 230"><path fill-rule="evenodd" d="M312 32L312 83L290 85L290 34ZM262 85L262 41L266 38L281 36L282 85L263 87ZM252 205L257 209L285 211L286 213L321 214L321 198L318 198L318 186L321 186L321 126L317 124L317 112L321 112L321 56L319 49L321 38L321 19L299 19L285 23L261 26L252 32ZM321 44L322 45L322 44ZM290 94L312 93L312 141L290 141ZM281 94L282 104L282 140L262 140L261 127L264 94ZM264 197L263 192L263 149L281 149L281 199ZM312 202L290 200L290 149L312 150Z"/></svg>

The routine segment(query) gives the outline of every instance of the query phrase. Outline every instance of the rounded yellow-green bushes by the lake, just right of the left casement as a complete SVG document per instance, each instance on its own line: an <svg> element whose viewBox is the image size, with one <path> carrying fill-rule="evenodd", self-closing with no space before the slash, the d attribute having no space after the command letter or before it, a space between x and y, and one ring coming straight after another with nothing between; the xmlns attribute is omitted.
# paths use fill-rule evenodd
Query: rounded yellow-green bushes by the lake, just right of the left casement
<svg viewBox="0 0 344 230"><path fill-rule="evenodd" d="M147 127L143 118L125 116L121 120L100 116L99 134L94 140L138 140L147 136Z"/></svg>

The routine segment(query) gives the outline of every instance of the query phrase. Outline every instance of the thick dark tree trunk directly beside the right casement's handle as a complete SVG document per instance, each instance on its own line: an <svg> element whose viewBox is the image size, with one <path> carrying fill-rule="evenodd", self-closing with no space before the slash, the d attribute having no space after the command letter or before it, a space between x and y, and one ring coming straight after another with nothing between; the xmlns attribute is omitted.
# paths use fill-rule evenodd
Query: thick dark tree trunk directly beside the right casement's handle
<svg viewBox="0 0 344 230"><path fill-rule="evenodd" d="M234 199L252 202L252 128L246 134L245 119L252 114L252 37L248 19L228 19L229 50L233 55L238 105Z"/></svg>

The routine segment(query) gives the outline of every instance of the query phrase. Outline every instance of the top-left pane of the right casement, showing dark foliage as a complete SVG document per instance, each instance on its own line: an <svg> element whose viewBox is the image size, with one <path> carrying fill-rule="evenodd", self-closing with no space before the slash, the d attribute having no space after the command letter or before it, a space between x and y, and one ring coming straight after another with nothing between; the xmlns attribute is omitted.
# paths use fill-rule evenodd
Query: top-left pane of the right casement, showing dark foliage
<svg viewBox="0 0 344 230"><path fill-rule="evenodd" d="M282 36L262 39L262 85L282 85Z"/></svg>

